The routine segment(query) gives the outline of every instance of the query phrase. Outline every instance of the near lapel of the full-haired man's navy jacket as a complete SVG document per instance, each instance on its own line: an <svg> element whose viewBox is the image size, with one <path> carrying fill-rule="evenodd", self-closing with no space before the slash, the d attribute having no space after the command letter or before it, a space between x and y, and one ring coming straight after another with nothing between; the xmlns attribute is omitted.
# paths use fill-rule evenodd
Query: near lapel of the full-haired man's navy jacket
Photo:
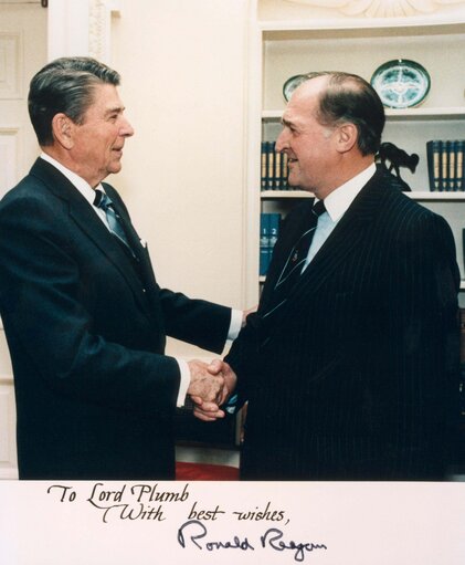
<svg viewBox="0 0 465 565"><path fill-rule="evenodd" d="M141 281L137 274L133 259L121 247L123 244L108 231L81 192L64 175L53 167L53 165L43 159L38 159L35 161L31 169L31 175L39 177L51 192L67 202L72 220L118 269L131 287L141 307L147 310L147 303L144 300L141 290Z"/></svg>

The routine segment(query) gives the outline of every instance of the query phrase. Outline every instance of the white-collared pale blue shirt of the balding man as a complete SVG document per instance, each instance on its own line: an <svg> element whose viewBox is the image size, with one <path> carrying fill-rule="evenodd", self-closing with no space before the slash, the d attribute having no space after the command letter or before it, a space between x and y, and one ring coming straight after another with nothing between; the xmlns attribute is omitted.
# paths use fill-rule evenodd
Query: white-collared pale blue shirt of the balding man
<svg viewBox="0 0 465 565"><path fill-rule="evenodd" d="M376 170L377 167L373 163L356 177L351 178L336 190L332 190L332 192L325 198L326 211L318 218L315 236L311 241L310 249L308 250L308 255L303 271L318 253L331 231L336 228L338 221L347 212L356 196L374 175ZM318 199L316 198L315 201L318 201Z"/></svg>

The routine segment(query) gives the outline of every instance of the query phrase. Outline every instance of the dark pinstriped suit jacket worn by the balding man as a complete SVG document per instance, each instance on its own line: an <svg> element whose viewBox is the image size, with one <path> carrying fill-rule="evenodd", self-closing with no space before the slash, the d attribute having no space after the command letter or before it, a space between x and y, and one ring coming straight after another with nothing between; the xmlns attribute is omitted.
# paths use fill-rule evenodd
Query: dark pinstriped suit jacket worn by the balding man
<svg viewBox="0 0 465 565"><path fill-rule="evenodd" d="M289 239L276 247L270 284ZM270 341L256 339L258 311L231 349L250 400L242 478L441 478L457 287L445 221L378 172L302 275ZM265 287L262 306L268 300Z"/></svg>

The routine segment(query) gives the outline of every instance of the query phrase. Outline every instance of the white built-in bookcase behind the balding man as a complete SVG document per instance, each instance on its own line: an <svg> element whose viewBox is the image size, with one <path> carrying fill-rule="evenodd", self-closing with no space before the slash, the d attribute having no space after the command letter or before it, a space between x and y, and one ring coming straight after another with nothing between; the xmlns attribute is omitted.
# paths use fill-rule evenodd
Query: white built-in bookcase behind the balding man
<svg viewBox="0 0 465 565"><path fill-rule="evenodd" d="M257 21L253 41L256 53L253 71L262 77L262 87L252 93L255 101L251 104L252 109L260 113L260 117L256 115L260 138L255 139L258 151L261 139L273 140L281 130L279 119L285 107L283 84L289 76L309 71L340 70L370 81L378 66L393 59L410 59L427 70L431 90L426 100L415 108L387 109L383 142L392 142L409 154L420 156L415 174L403 168L402 178L412 188L411 198L444 216L451 224L464 276L465 192L430 192L426 142L465 138L465 80L461 72L465 19L438 21L431 15L415 19L414 23L399 19L357 22L338 19L332 23L328 20ZM251 172L250 186L256 193L256 198L251 199L256 203L253 210L255 221L258 221L260 211L285 213L296 198L310 196L299 191L261 191L260 154L256 148L253 150L256 161L251 164L250 171L252 167L255 171ZM256 233L254 253L257 253L257 241ZM257 275L254 280L257 285Z"/></svg>

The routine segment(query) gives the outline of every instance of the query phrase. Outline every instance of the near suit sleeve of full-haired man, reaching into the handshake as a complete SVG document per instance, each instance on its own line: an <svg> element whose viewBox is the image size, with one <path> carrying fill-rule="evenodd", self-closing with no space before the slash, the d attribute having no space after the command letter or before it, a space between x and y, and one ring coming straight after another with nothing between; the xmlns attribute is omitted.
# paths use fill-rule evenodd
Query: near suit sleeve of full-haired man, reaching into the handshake
<svg viewBox="0 0 465 565"><path fill-rule="evenodd" d="M0 211L0 305L13 369L24 359L63 396L170 414L180 380L176 359L94 331L68 226L54 212L32 198L12 199Z"/></svg>

